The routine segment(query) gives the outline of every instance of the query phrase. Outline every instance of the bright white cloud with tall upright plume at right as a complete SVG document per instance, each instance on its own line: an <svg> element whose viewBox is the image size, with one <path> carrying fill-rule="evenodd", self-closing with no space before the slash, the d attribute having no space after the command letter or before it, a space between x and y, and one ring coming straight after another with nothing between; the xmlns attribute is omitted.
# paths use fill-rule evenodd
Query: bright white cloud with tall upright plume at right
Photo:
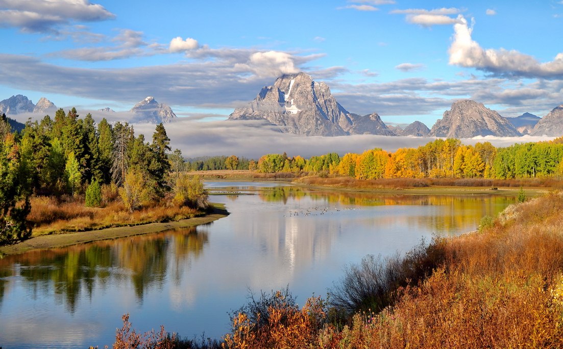
<svg viewBox="0 0 563 349"><path fill-rule="evenodd" d="M467 24L467 20L461 15L458 19L459 23L454 25L452 45L448 50L450 64L481 69L506 77L563 77L563 52L557 54L553 61L539 63L533 56L516 50L485 50L471 38L473 28Z"/></svg>

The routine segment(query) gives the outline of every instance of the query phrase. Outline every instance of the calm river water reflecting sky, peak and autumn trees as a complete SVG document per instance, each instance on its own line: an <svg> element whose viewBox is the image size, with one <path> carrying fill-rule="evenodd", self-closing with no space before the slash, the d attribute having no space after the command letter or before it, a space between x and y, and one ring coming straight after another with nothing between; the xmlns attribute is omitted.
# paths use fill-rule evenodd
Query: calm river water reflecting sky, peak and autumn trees
<svg viewBox="0 0 563 349"><path fill-rule="evenodd" d="M289 285L303 304L366 254L475 229L514 197L313 191L284 183L207 182L231 213L207 226L30 251L0 259L0 346L113 343L121 316L147 331L220 338L248 289Z"/></svg>

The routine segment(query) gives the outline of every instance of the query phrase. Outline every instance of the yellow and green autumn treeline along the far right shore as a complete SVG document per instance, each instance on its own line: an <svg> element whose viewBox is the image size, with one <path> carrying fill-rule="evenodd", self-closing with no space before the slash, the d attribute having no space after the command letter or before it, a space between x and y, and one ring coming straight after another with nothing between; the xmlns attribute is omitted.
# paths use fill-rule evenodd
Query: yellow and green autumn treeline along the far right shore
<svg viewBox="0 0 563 349"><path fill-rule="evenodd" d="M266 154L258 160L262 173L306 171L321 176L380 178L543 178L563 174L563 141L514 144L495 148L490 142L464 145L459 139L436 139L418 148L387 152L374 148L339 156ZM249 168L252 170L252 168Z"/></svg>

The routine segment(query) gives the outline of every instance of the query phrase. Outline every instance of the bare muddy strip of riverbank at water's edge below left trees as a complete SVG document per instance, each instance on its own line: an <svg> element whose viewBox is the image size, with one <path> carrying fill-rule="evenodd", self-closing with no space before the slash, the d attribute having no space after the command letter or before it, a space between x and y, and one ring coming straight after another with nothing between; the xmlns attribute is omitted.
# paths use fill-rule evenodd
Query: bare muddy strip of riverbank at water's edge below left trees
<svg viewBox="0 0 563 349"><path fill-rule="evenodd" d="M35 236L29 240L25 240L14 245L1 246L0 255L23 253L34 249L60 248L99 240L161 232L169 229L195 227L201 224L211 223L229 215L229 212L225 210L224 205L212 205L213 210L201 217L193 217L171 222L147 223L135 226L111 227L91 231Z"/></svg>

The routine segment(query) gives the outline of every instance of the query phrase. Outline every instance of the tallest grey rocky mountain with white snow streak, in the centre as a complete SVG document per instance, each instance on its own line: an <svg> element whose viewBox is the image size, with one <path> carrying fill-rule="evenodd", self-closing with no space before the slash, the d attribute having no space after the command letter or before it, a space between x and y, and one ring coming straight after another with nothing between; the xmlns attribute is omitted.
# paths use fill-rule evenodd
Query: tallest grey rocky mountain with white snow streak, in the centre
<svg viewBox="0 0 563 349"><path fill-rule="evenodd" d="M246 107L236 108L229 120L267 120L283 132L306 136L394 135L378 114L351 114L334 99L326 83L305 73L279 77Z"/></svg>

